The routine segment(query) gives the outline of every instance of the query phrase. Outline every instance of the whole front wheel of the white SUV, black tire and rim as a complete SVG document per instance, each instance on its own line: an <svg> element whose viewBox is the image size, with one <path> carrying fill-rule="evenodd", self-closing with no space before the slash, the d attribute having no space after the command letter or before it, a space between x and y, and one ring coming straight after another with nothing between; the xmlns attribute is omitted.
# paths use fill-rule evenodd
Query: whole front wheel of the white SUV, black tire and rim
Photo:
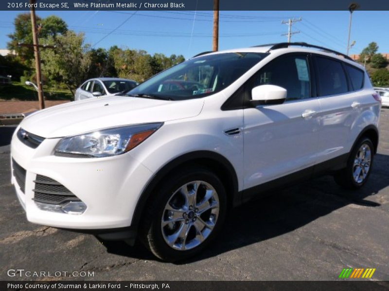
<svg viewBox="0 0 389 291"><path fill-rule="evenodd" d="M177 170L167 179L152 194L141 240L159 259L177 261L195 256L217 236L227 195L220 179L203 167Z"/></svg>

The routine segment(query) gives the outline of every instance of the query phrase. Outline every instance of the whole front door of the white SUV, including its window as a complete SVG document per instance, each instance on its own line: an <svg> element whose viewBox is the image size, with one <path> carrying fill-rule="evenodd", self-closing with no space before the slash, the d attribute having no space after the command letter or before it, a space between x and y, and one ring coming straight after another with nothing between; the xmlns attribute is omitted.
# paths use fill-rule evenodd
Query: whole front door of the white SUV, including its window
<svg viewBox="0 0 389 291"><path fill-rule="evenodd" d="M283 177L315 164L320 110L307 54L287 54L261 68L246 84L272 84L287 90L280 105L244 110L245 188Z"/></svg>

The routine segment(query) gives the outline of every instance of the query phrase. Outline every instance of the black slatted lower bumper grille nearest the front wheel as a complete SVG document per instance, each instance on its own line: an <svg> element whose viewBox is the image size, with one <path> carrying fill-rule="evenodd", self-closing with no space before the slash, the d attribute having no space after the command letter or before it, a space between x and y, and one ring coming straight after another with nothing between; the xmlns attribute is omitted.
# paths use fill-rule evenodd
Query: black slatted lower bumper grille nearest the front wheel
<svg viewBox="0 0 389 291"><path fill-rule="evenodd" d="M67 201L81 201L76 195L56 180L36 175L34 198L36 202L62 204Z"/></svg>

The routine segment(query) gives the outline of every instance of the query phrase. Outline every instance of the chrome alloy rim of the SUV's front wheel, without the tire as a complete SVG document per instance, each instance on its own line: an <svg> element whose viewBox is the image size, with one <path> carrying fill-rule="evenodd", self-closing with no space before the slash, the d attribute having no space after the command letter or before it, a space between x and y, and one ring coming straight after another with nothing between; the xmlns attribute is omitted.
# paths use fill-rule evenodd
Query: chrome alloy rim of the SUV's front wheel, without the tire
<svg viewBox="0 0 389 291"><path fill-rule="evenodd" d="M219 197L211 184L192 181L170 197L161 219L162 236L175 250L189 250L211 234L219 214Z"/></svg>

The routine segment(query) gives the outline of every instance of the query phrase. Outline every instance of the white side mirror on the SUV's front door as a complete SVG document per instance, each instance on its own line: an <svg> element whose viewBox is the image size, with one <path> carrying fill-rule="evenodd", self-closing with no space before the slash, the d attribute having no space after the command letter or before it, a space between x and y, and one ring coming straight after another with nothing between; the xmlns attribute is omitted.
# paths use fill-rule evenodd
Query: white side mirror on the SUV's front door
<svg viewBox="0 0 389 291"><path fill-rule="evenodd" d="M286 99L286 89L275 85L260 85L251 90L251 103L257 105L283 104Z"/></svg>

